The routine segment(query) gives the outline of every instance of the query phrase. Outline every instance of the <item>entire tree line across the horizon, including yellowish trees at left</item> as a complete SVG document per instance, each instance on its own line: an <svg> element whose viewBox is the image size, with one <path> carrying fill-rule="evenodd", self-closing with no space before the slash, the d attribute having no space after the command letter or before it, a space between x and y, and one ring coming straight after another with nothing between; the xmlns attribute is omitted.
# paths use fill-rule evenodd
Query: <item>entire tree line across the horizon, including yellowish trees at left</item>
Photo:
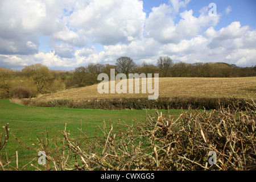
<svg viewBox="0 0 256 182"><path fill-rule="evenodd" d="M226 63L174 63L169 56L161 56L156 65L136 64L130 57L119 57L115 64L89 64L74 71L54 71L42 64L24 67L21 71L0 68L0 98L27 98L100 82L97 77L110 69L115 75L125 73L159 73L159 77L250 77L256 76L256 65L237 67Z"/></svg>

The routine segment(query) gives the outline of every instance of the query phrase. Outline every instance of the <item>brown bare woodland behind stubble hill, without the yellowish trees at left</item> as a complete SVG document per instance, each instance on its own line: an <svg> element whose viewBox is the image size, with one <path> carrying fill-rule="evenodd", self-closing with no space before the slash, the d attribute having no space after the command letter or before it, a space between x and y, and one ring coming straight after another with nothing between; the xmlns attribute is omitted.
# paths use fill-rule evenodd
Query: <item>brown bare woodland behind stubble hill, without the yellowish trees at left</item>
<svg viewBox="0 0 256 182"><path fill-rule="evenodd" d="M97 76L106 73L110 77L110 69L117 73L159 73L159 77L250 77L256 76L254 67L237 67L235 64L226 63L174 63L169 56L161 56L156 65L135 64L130 57L119 57L114 65L89 64L79 67L73 73L73 80L77 86L87 86L98 82Z"/></svg>

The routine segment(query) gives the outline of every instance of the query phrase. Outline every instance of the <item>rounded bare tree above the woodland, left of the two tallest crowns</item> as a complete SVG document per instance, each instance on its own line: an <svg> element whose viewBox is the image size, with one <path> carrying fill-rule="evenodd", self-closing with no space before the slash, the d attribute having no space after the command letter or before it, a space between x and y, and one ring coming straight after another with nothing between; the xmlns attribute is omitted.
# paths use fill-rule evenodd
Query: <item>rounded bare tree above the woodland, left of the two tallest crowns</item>
<svg viewBox="0 0 256 182"><path fill-rule="evenodd" d="M126 76L133 71L135 65L130 57L119 57L115 63L118 73L125 73Z"/></svg>

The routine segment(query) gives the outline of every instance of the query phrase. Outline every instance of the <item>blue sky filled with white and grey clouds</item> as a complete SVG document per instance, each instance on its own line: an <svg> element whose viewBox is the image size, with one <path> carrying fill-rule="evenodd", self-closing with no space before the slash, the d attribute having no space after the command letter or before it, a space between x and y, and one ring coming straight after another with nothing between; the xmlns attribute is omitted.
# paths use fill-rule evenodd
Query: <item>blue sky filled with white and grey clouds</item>
<svg viewBox="0 0 256 182"><path fill-rule="evenodd" d="M120 56L250 67L255 8L255 0L0 0L0 67L71 70Z"/></svg>

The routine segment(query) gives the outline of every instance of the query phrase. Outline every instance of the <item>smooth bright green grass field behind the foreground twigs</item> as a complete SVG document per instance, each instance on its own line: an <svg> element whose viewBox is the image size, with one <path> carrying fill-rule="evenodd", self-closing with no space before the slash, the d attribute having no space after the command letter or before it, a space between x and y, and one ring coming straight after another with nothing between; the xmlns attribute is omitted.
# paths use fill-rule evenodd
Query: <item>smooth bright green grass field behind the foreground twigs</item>
<svg viewBox="0 0 256 182"><path fill-rule="evenodd" d="M167 110L159 110L166 114ZM155 114L155 110L148 110L148 114ZM176 117L181 110L170 110L170 114ZM85 110L85 109L67 109L53 107L28 107L20 104L11 103L9 100L0 100L0 134L4 132L2 126L9 123L9 132L14 134L21 142L31 147L32 140L36 140L36 135L42 136L41 133L49 131L56 133L58 130L64 130L67 123L67 131L71 135L77 135L81 128L83 130L86 124L86 131L94 131L96 126L101 126L105 120L109 125L109 119L113 122L125 121L127 124L132 123L133 119L145 121L146 110ZM4 134L4 133L3 133ZM13 135L9 135L6 143L6 150L9 156L15 154L18 148L19 160L30 158L31 151L19 146ZM5 153L5 148L0 151L0 155ZM35 156L35 155L34 155Z"/></svg>

